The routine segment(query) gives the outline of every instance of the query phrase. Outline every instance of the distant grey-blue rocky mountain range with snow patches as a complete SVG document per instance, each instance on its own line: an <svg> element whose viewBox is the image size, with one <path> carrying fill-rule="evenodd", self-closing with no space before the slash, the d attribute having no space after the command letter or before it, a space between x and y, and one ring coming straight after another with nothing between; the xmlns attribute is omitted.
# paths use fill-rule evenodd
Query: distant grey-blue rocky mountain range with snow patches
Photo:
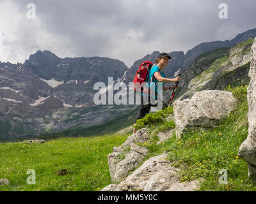
<svg viewBox="0 0 256 204"><path fill-rule="evenodd" d="M164 68L166 77L187 73L187 77L184 77L187 81L181 84L188 88L188 83L193 79L191 76L196 77L209 68L207 65L203 69L196 69L195 64L202 59L202 54L212 52L214 55L222 48L223 52L214 55L214 60L228 57L230 47L255 36L256 29L252 29L232 40L200 43L186 54L182 51L170 52L172 61ZM93 85L96 82L108 84L108 77L113 77L115 82L128 84L132 82L141 62L154 62L159 54L159 51L147 54L135 61L131 68L117 59L62 59L47 50L38 50L23 64L0 62L0 139L12 140L17 136L86 128L131 112L136 105L94 105L93 96L97 91L93 90ZM194 74L189 72L191 70ZM184 90L179 96L185 94Z"/></svg>

